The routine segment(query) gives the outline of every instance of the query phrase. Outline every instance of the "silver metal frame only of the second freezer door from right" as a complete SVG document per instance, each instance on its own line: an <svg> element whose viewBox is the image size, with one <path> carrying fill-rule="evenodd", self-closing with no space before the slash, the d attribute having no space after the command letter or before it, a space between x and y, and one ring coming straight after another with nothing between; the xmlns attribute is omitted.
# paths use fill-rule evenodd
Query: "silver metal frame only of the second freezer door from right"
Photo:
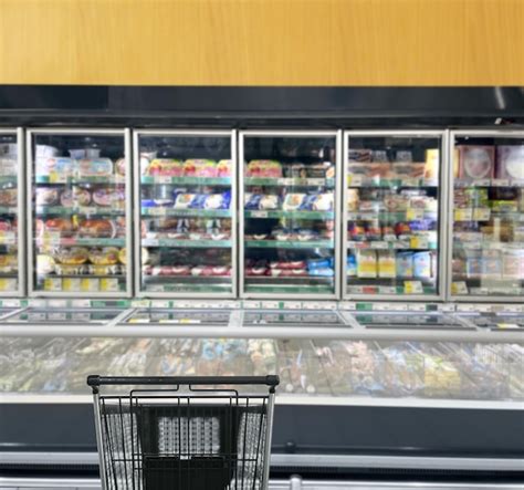
<svg viewBox="0 0 524 490"><path fill-rule="evenodd" d="M446 186L446 183L442 181L442 175L446 171L446 161L442 159L443 150L446 148L444 146L444 138L446 138L446 131L443 129L401 129L401 131L387 131L387 129L377 129L377 131L345 131L345 147L344 147L344 154L345 154L345 177L344 177L344 189L346 189L347 192L347 154L349 150L349 143L352 136L406 136L406 137L429 137L429 136L434 136L436 138L440 139L440 148L441 148L441 157L440 157L440 163L441 163L441 168L440 168L440 174L439 174L439 211L442 212L443 209L443 187ZM344 204L343 204L343 210L345 210L345 216L344 216L344 229L347 230L347 197L344 198ZM442 222L442 215L440 216L440 221ZM443 227L443 225L441 225ZM439 257L439 273L441 272L441 267L442 267L442 253L446 253L442 251L442 229L439 227L439 251L438 251L438 257ZM346 236L346 242L343 244L345 257L347 260L347 231L344 232ZM345 270L345 269L344 269ZM439 291L437 294L355 294L352 293L349 294L347 291L347 278L346 274L344 274L344 282L345 282L345 288L344 292L345 294L343 295L344 300L374 300L376 301L379 299L380 301L442 301L443 300L443 289L442 289L442 278L438 280L438 286Z"/></svg>

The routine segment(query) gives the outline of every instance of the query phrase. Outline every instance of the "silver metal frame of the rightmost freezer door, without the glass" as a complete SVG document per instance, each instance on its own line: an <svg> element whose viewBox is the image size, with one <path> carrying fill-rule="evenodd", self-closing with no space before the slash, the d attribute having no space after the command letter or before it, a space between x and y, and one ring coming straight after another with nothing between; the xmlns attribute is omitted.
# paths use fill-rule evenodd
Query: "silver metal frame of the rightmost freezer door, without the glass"
<svg viewBox="0 0 524 490"><path fill-rule="evenodd" d="M450 143L449 143L449 155L450 161L452 163L453 149L455 146L457 137L471 136L471 137L504 137L504 138L524 138L524 131L522 129L457 129L450 131ZM449 192L450 192L450 213L449 213L449 260L448 260L448 270L449 270L449 295L448 300L457 303L462 302L482 302L482 303L522 303L522 296L504 296L504 295L453 295L451 293L451 283L452 283L452 258L453 258L453 191L454 191L454 176L453 176L453 165L450 165L450 177L449 177Z"/></svg>

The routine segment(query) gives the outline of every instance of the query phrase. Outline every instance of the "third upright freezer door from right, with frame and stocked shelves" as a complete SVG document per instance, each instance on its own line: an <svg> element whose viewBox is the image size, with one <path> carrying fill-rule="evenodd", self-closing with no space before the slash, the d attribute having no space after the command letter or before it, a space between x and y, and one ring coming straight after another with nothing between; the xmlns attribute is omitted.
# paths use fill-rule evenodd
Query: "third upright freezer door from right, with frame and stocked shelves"
<svg viewBox="0 0 524 490"><path fill-rule="evenodd" d="M241 296L338 296L339 139L240 133Z"/></svg>

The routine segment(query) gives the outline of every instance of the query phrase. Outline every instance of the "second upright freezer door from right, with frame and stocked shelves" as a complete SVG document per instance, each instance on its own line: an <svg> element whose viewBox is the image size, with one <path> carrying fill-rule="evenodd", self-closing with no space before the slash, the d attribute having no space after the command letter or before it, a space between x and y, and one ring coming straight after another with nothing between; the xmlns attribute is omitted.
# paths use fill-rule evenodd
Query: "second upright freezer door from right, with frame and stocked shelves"
<svg viewBox="0 0 524 490"><path fill-rule="evenodd" d="M345 298L443 298L444 145L434 131L345 133Z"/></svg>

